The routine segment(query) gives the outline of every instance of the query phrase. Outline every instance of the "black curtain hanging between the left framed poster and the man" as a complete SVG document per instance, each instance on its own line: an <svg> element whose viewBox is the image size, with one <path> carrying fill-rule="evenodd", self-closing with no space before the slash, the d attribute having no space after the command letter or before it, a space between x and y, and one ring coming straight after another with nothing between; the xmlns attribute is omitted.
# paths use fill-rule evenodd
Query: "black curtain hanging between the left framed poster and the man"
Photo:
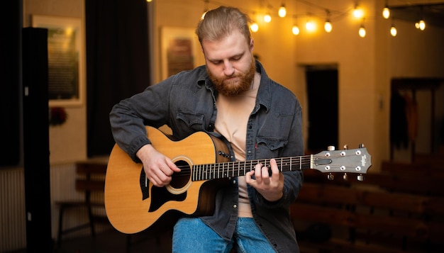
<svg viewBox="0 0 444 253"><path fill-rule="evenodd" d="M114 145L109 112L149 85L146 0L85 0L88 156Z"/></svg>

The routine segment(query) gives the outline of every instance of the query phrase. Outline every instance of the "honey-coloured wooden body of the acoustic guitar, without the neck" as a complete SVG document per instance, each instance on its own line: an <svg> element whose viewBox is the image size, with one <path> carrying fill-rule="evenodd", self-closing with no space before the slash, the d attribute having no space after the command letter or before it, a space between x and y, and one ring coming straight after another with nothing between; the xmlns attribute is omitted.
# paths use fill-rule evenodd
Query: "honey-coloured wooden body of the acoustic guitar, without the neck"
<svg viewBox="0 0 444 253"><path fill-rule="evenodd" d="M156 128L147 127L147 132L153 147L172 159L182 172L174 174L168 186L153 186L143 165L114 145L105 180L105 208L111 225L131 234L145 230L161 217L169 220L169 213L211 214L217 191L213 182L192 181L191 174L185 172L191 172L192 164L227 162L228 158L219 154L229 153L225 143L204 132L180 141L171 140Z"/></svg>

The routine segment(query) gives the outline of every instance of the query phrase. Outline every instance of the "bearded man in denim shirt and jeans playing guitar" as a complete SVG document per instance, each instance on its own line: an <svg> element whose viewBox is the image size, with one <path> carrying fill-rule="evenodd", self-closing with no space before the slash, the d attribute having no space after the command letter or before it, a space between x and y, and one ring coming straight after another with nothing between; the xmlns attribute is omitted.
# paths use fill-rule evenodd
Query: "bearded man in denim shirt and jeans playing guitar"
<svg viewBox="0 0 444 253"><path fill-rule="evenodd" d="M181 169L155 149L145 125L167 125L179 140L198 131L220 135L233 161L270 159L218 189L213 213L179 218L172 252L299 252L289 206L301 172L281 172L274 158L304 154L301 105L253 57L249 21L233 7L208 11L196 28L206 64L148 86L110 113L116 143L156 187Z"/></svg>

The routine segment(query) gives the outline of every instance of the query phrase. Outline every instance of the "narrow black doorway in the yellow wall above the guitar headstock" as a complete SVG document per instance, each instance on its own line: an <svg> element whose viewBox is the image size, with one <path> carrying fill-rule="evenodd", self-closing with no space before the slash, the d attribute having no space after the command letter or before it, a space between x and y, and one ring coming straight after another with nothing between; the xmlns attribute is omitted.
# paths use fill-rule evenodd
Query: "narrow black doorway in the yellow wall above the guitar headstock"
<svg viewBox="0 0 444 253"><path fill-rule="evenodd" d="M338 147L338 67L306 67L309 113L309 152Z"/></svg>

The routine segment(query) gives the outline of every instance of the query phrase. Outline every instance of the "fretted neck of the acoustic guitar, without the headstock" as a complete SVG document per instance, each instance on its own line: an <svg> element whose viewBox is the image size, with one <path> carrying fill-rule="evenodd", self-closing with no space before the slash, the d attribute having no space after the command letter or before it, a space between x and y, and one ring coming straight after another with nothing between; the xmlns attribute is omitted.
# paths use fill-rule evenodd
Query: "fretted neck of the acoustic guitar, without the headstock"
<svg viewBox="0 0 444 253"><path fill-rule="evenodd" d="M275 159L280 172L293 172L302 169L311 169L313 167L313 154ZM270 171L270 159L256 159L243 162L221 162L216 164L195 164L192 169L192 181L245 176L247 172L253 170L256 164L259 163L264 167L269 168Z"/></svg>

